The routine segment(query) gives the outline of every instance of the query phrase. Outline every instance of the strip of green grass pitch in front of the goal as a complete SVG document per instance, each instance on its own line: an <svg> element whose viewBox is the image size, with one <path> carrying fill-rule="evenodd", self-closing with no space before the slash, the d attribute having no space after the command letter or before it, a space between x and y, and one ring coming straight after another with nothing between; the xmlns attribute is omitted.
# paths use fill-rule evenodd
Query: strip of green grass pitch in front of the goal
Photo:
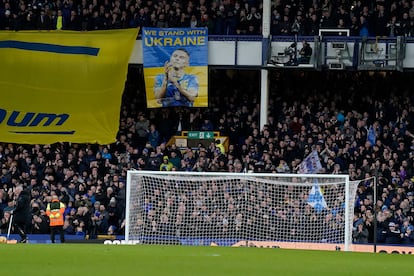
<svg viewBox="0 0 414 276"><path fill-rule="evenodd" d="M4 244L0 263L0 275L5 276L411 275L414 256L201 246Z"/></svg>

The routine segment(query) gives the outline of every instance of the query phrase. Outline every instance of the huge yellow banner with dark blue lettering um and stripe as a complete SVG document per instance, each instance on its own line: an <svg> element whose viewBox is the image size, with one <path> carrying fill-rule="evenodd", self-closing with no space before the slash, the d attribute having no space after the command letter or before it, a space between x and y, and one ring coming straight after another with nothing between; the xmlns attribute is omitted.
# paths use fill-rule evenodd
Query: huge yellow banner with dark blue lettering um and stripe
<svg viewBox="0 0 414 276"><path fill-rule="evenodd" d="M114 142L137 33L0 32L0 141Z"/></svg>

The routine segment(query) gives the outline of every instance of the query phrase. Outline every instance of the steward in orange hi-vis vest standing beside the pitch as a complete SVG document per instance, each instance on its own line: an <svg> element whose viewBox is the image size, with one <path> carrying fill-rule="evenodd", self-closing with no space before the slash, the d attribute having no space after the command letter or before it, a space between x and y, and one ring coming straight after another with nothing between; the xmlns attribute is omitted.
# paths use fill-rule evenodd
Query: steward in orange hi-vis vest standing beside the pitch
<svg viewBox="0 0 414 276"><path fill-rule="evenodd" d="M63 213L65 212L65 204L59 201L59 198L52 196L52 202L47 204L46 214L50 219L50 239L52 243L55 243L56 231L60 234L60 242L65 242L65 236L63 231L63 224L65 223Z"/></svg>

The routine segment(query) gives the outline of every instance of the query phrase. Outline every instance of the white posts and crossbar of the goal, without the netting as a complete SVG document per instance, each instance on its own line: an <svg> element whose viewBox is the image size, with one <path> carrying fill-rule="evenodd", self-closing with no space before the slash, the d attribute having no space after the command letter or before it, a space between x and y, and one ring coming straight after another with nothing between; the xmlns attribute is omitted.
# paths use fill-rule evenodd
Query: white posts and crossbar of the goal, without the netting
<svg viewBox="0 0 414 276"><path fill-rule="evenodd" d="M357 190L357 183L352 181L350 182L349 180L349 175L328 175L328 174L272 174L272 173L227 173L227 172L170 172L170 171L138 171L138 170L129 170L127 172L127 191L126 191L126 212L125 212L125 241L126 243L129 243L131 241L134 241L134 244L140 243L140 241L135 240L134 238L131 238L130 236L130 215L131 215L131 210L133 207L133 204L131 202L131 191L134 186L133 183L133 178L136 178L137 176L168 176L171 178L174 178L174 176L176 177L200 177L200 178L204 178L204 177L230 177L230 178L240 178L240 179L253 179L255 177L258 178L277 178L277 179L329 179L329 180L334 180L335 183L332 183L333 185L336 185L337 183L344 183L345 185L345 199L344 199L344 241L343 243L339 244L339 246L337 245L336 247L330 247L330 249L327 249L326 247L324 248L323 246L321 246L321 244L312 247L312 246L307 246L305 245L305 247L308 248L303 248L303 249L322 249L322 250L344 250L344 251L349 251L351 250L351 245L352 245L352 220L353 220L353 212L352 212L352 208L354 207L355 204L355 193ZM275 180L280 182L281 180ZM360 181L357 181L360 182ZM304 183L294 183L294 182L285 182L286 185L304 185ZM330 183L324 183L325 185L328 185ZM312 183L307 182L306 183L306 187L308 190L310 190L312 188ZM352 186L351 186L352 185ZM350 192L354 193L353 195L350 194ZM248 241L247 241L248 242ZM293 242L294 243L294 242ZM283 244L283 242L279 243L279 244ZM292 244L292 242L290 243ZM249 244L246 245L241 245L241 246L249 246ZM262 247L260 245L260 243L257 243L253 246L257 246L257 247ZM266 247L266 246L265 246ZM279 246L274 246L274 247L279 247ZM280 246L281 248L283 248L284 246ZM300 248L300 247L295 247L295 246L288 246L286 248ZM332 249L333 248L333 249Z"/></svg>

